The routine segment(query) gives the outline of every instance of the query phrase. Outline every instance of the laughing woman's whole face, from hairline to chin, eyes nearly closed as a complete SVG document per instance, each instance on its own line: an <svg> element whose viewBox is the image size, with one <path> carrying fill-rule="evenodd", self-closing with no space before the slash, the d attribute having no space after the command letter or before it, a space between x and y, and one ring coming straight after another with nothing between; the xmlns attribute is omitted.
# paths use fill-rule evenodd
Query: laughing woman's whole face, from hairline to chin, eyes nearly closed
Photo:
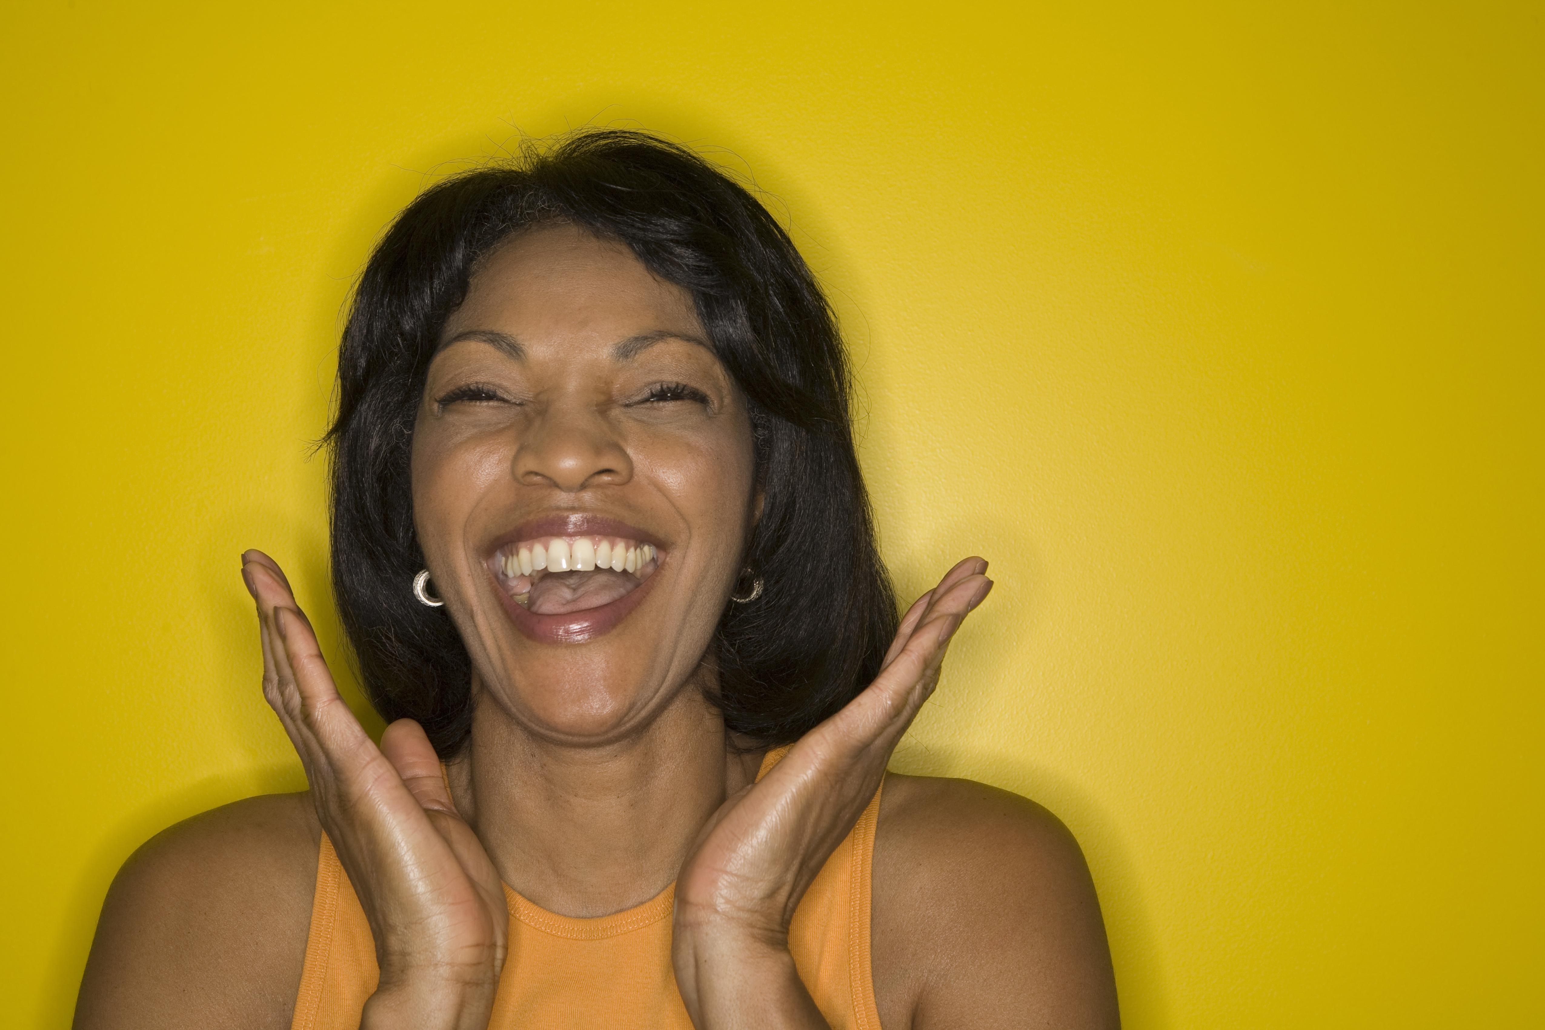
<svg viewBox="0 0 1545 1030"><path fill-rule="evenodd" d="M686 290L570 225L473 276L430 364L413 503L480 704L604 740L698 669L756 517L751 420L706 341Z"/></svg>

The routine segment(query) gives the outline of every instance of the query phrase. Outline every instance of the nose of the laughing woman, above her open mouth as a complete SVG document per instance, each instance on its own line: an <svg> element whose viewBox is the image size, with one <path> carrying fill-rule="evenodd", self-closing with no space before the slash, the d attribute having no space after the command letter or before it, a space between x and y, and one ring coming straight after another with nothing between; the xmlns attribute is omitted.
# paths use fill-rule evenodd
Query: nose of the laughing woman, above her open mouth
<svg viewBox="0 0 1545 1030"><path fill-rule="evenodd" d="M573 494L626 483L633 462L601 412L555 405L525 425L511 473L521 485Z"/></svg>

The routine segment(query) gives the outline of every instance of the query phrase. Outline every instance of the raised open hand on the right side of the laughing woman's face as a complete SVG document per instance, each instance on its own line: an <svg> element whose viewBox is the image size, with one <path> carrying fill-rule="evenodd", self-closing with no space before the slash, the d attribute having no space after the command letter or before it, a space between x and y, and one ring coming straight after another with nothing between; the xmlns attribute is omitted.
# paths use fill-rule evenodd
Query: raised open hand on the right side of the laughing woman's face
<svg viewBox="0 0 1545 1030"><path fill-rule="evenodd" d="M955 630L992 590L986 571L986 561L967 557L918 598L874 683L703 828L677 877L672 945L700 1030L827 1025L794 970L789 920L879 789Z"/></svg>

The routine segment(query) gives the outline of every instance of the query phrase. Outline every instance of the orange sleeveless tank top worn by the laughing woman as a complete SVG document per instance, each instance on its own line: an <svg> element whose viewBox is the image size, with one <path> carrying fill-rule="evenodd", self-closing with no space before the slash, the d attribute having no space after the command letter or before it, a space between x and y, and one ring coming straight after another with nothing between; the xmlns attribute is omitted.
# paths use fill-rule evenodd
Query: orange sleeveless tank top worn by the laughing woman
<svg viewBox="0 0 1545 1030"><path fill-rule="evenodd" d="M760 780L786 749L768 752ZM788 947L833 1030L879 1030L870 976L870 871L879 791L794 911ZM624 913L572 919L504 888L510 957L488 1030L692 1030L671 967L675 885ZM355 1030L375 990L375 942L332 842L321 839L292 1030Z"/></svg>

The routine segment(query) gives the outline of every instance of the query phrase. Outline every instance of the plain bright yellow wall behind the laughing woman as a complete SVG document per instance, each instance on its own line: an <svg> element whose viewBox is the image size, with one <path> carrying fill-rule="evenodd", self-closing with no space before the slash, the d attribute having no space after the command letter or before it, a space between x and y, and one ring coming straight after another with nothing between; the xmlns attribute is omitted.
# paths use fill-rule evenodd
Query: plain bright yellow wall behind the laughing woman
<svg viewBox="0 0 1545 1030"><path fill-rule="evenodd" d="M66 1025L141 840L301 784L236 554L326 613L307 442L375 233L518 131L640 124L828 283L902 588L992 559L896 764L1072 826L1126 1025L1542 1025L1542 42L1525 3L5 5L0 1022Z"/></svg>

